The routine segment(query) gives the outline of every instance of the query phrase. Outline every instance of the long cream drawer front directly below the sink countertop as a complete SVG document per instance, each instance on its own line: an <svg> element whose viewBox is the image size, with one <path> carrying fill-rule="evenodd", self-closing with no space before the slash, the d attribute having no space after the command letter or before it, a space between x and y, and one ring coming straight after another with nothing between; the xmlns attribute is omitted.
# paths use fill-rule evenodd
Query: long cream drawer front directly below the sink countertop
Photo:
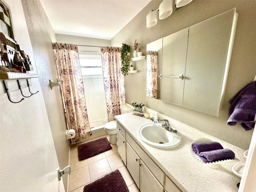
<svg viewBox="0 0 256 192"><path fill-rule="evenodd" d="M154 174L158 181L164 185L164 172L158 167L158 165L150 158L150 156L148 156L148 154L146 154L146 152L144 152L144 150L129 134L126 134L126 141L130 144L138 156L140 156L146 166L150 168L150 171Z"/></svg>

